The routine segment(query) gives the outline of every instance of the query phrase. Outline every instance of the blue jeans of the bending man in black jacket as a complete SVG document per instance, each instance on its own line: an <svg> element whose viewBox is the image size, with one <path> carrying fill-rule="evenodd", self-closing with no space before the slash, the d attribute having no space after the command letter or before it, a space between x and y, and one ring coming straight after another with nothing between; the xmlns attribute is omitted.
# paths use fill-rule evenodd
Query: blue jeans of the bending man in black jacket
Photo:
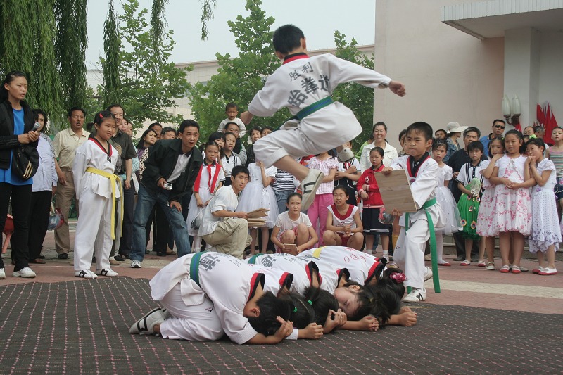
<svg viewBox="0 0 563 375"><path fill-rule="evenodd" d="M145 224L156 203L163 209L170 227L172 227L172 233L174 233L174 240L178 250L178 258L191 253L186 222L182 212L179 212L176 208L170 208L168 205L169 195L169 191L158 189L156 196L152 196L146 191L144 186L139 186L137 209L135 210L135 218L133 220L133 248L131 253L129 253L129 259L139 261L144 259L146 246Z"/></svg>

